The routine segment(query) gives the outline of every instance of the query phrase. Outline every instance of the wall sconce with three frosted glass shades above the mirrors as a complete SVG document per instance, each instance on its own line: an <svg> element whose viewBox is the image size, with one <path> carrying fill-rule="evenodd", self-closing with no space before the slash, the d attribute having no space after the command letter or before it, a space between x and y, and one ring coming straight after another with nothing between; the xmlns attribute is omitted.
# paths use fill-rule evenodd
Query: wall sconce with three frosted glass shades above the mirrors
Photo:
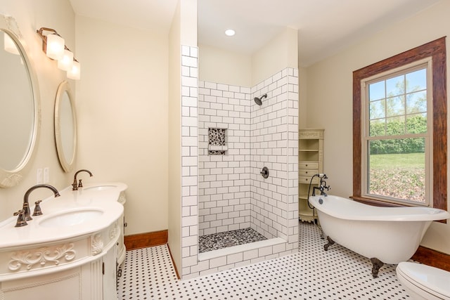
<svg viewBox="0 0 450 300"><path fill-rule="evenodd" d="M44 35L44 31L52 33ZM36 32L42 39L42 51L46 53L46 56L58 60L58 68L67 71L68 78L78 80L80 78L79 62L73 56L73 52L65 46L63 37L56 30L46 27L41 27Z"/></svg>

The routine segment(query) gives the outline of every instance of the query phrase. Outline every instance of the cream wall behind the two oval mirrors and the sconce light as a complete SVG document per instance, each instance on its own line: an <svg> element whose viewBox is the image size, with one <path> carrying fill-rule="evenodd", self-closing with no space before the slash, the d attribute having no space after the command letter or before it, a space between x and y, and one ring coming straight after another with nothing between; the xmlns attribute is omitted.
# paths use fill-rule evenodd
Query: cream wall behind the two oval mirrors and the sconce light
<svg viewBox="0 0 450 300"><path fill-rule="evenodd" d="M49 167L50 184L58 189L70 185L73 174L65 174L60 167L56 154L53 128L53 112L56 91L61 81L65 80L65 72L60 71L56 62L42 52L41 39L36 33L40 27L51 27L65 39L69 48L75 48L75 15L68 0L2 0L0 12L11 15L18 23L25 49L30 57L39 81L41 100L41 134L37 143L37 153L31 164L30 172L23 181L13 188L0 188L0 221L7 219L22 207L26 190L37 183L37 169ZM77 57L77 53L75 52ZM70 81L72 90L74 81ZM17 86L20 89L20 86ZM1 102L6 99L0 99ZM53 195L50 190L39 189L30 195L30 203Z"/></svg>

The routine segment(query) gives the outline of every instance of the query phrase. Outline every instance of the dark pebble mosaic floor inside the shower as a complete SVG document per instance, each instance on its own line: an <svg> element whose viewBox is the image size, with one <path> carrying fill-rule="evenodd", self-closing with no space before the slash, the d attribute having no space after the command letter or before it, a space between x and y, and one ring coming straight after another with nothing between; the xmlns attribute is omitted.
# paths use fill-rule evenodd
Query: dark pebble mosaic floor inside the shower
<svg viewBox="0 0 450 300"><path fill-rule="evenodd" d="M198 252L208 252L226 247L248 244L249 242L259 242L267 240L264 235L260 235L252 228L226 231L224 233L214 233L212 235L202 235L198 237Z"/></svg>

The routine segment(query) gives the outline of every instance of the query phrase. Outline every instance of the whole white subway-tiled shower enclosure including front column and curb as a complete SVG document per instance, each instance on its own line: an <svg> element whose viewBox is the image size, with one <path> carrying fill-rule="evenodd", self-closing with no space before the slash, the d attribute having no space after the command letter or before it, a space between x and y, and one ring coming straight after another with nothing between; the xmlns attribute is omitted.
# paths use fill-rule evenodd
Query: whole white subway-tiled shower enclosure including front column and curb
<svg viewBox="0 0 450 300"><path fill-rule="evenodd" d="M297 252L298 70L252 87L198 81L198 48L181 52L181 278ZM240 228L268 240L198 253L199 236Z"/></svg>

